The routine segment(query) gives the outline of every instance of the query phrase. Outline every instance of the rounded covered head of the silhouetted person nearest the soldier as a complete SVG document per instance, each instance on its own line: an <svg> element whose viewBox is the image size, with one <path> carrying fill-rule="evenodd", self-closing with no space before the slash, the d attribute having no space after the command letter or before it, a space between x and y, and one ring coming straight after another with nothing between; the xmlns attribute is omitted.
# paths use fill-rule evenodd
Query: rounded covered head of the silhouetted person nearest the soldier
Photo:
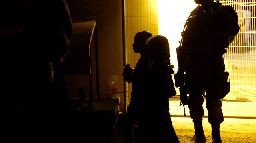
<svg viewBox="0 0 256 143"><path fill-rule="evenodd" d="M156 35L148 40L147 57L152 60L166 61L170 63L169 41L162 35Z"/></svg>

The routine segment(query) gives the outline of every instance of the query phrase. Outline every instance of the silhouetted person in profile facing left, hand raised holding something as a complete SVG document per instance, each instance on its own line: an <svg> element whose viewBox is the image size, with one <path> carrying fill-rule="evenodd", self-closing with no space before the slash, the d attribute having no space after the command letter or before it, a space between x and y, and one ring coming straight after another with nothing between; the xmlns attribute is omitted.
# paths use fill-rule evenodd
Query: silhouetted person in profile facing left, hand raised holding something
<svg viewBox="0 0 256 143"><path fill-rule="evenodd" d="M140 106L141 106L141 95L144 92L141 88L141 85L145 82L143 79L144 72L147 68L146 63L148 63L148 59L146 57L147 49L147 39L152 37L152 34L148 31L142 31L136 33L134 36L134 43L132 44L134 53L140 53L140 59L135 66L134 71L130 66L124 69L123 76L124 81L130 83L132 82L132 92L131 92L131 101L127 108L127 112L124 119L124 142L125 143L133 143L133 131L132 127L134 123L138 120L138 116L140 114Z"/></svg>

